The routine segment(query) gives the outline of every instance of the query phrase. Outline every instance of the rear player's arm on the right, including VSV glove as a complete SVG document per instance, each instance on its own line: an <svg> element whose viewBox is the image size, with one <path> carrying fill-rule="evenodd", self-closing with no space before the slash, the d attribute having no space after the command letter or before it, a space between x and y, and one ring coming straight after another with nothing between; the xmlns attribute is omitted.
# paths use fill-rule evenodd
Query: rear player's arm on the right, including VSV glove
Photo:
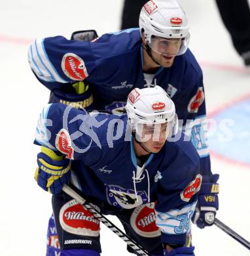
<svg viewBox="0 0 250 256"><path fill-rule="evenodd" d="M207 143L207 116L205 108L205 92L202 70L198 73L189 72L187 77L193 85L182 102L182 115L184 119L183 131L190 137L192 144L200 156L200 169L203 176L198 205L193 216L193 221L200 228L211 226L214 222L216 211L219 209L219 175L211 173L209 148Z"/></svg>

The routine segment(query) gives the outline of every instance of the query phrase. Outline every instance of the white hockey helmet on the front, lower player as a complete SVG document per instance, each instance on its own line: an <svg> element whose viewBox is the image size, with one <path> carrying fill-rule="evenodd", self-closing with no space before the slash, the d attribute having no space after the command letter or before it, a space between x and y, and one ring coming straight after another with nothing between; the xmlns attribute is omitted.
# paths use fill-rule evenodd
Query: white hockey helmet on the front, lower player
<svg viewBox="0 0 250 256"><path fill-rule="evenodd" d="M175 135L178 131L175 104L166 91L158 85L132 90L128 95L125 108L130 128L139 137L142 135L143 125L167 123L168 137Z"/></svg>

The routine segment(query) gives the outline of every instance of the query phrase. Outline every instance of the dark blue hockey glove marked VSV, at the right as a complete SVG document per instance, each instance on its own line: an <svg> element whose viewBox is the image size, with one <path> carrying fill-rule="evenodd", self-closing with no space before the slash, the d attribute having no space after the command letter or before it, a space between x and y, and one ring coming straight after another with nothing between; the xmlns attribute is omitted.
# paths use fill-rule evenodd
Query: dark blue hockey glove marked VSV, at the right
<svg viewBox="0 0 250 256"><path fill-rule="evenodd" d="M215 174L209 179L204 176L198 197L198 203L192 221L199 228L211 226L215 221L216 211L219 209L219 175Z"/></svg>

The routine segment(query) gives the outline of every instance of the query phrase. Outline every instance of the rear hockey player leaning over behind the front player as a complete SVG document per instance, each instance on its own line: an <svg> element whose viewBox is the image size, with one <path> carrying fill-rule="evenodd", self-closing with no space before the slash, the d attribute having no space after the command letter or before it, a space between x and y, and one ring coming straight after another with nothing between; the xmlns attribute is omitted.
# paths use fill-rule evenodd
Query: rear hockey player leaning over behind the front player
<svg viewBox="0 0 250 256"><path fill-rule="evenodd" d="M122 112L134 87L160 85L175 102L183 120L180 127L198 150L204 180L215 184L218 175L211 173L202 70L188 49L187 17L176 1L149 1L141 10L139 26L92 42L62 36L37 39L29 47L29 64L50 89L50 102L88 110ZM201 228L213 224L216 205L200 200L194 223Z"/></svg>

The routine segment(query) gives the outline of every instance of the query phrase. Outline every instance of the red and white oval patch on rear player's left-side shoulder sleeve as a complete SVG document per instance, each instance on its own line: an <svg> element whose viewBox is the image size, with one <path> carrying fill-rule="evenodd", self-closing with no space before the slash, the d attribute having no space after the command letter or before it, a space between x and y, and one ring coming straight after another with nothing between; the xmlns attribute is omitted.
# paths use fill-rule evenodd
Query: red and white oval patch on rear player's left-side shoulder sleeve
<svg viewBox="0 0 250 256"><path fill-rule="evenodd" d="M62 59L62 70L67 77L82 81L88 77L88 72L82 58L75 53L66 53Z"/></svg>

